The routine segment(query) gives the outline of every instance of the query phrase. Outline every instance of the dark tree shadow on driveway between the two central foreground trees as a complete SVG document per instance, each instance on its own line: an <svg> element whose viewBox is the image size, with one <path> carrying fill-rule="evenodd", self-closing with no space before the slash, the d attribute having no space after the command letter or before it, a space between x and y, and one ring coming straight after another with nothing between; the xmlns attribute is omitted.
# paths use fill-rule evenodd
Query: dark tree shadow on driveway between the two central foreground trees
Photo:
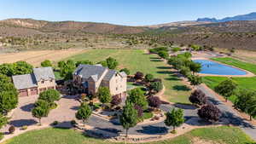
<svg viewBox="0 0 256 144"><path fill-rule="evenodd" d="M137 132L148 135L162 135L168 133L168 128L166 128L165 126L147 125L143 126L142 128L143 130L137 130Z"/></svg>

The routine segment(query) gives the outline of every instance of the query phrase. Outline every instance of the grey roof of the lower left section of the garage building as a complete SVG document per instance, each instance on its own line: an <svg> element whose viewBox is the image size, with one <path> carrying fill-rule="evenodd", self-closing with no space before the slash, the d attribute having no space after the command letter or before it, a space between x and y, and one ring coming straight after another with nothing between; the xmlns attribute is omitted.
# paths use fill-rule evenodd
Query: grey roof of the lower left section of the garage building
<svg viewBox="0 0 256 144"><path fill-rule="evenodd" d="M16 75L12 78L16 89L28 89L38 86L36 78L32 74Z"/></svg>

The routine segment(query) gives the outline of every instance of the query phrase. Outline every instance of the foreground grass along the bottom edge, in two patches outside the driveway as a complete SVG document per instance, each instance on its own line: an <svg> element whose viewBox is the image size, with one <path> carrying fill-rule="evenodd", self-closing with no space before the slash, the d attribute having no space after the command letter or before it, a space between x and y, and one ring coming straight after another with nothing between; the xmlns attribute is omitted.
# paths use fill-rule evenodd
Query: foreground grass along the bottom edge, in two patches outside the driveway
<svg viewBox="0 0 256 144"><path fill-rule="evenodd" d="M225 144L252 144L251 140L240 129L235 127L215 127L192 130L172 140L150 142L150 144L192 144L196 140L214 141ZM194 141L193 141L194 140ZM32 130L15 136L2 144L114 144L109 141L90 138L75 130L49 128L45 130ZM121 144L121 143L119 143ZM147 143L149 144L149 142Z"/></svg>

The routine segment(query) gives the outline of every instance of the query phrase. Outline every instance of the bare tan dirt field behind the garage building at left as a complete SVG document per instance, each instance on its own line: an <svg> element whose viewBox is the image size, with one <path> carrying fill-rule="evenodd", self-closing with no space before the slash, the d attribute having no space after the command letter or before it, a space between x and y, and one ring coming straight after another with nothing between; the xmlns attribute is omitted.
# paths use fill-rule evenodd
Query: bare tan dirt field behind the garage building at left
<svg viewBox="0 0 256 144"><path fill-rule="evenodd" d="M84 52L85 49L65 49L65 50L37 50L19 53L0 54L0 64L11 63L18 60L25 60L33 66L39 66L44 60L61 60L71 55Z"/></svg>

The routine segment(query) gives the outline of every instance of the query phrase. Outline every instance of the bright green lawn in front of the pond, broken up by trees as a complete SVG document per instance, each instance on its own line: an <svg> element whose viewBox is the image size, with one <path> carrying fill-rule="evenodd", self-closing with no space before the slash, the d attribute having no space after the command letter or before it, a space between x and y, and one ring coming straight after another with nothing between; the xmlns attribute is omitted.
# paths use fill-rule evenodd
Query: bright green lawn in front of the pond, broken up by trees
<svg viewBox="0 0 256 144"><path fill-rule="evenodd" d="M203 83L207 84L207 86L211 89L214 89L222 81L226 80L225 77L203 77ZM256 91L256 77L253 78L232 78L239 89L251 89ZM231 96L230 101L235 101L236 96Z"/></svg>

